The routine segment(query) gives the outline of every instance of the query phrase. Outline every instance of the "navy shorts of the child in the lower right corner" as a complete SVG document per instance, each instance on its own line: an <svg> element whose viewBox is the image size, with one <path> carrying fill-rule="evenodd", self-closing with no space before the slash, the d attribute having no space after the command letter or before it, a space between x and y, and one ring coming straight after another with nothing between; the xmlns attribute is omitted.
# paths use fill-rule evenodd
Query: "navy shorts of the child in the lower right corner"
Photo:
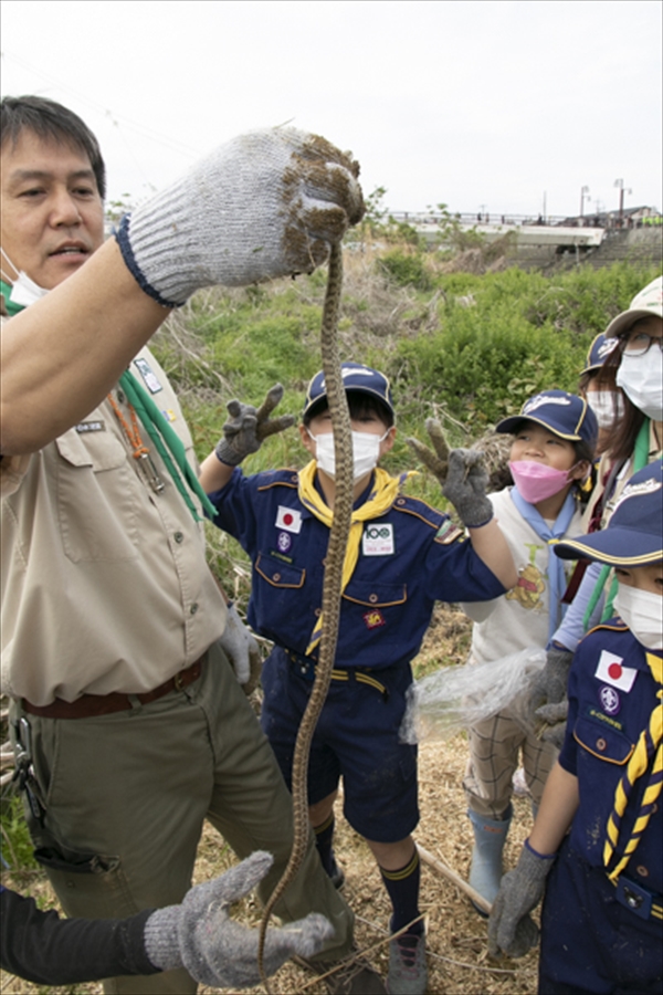
<svg viewBox="0 0 663 995"><path fill-rule="evenodd" d="M602 868L561 846L541 910L539 995L654 995L663 991L660 919L615 900Z"/></svg>

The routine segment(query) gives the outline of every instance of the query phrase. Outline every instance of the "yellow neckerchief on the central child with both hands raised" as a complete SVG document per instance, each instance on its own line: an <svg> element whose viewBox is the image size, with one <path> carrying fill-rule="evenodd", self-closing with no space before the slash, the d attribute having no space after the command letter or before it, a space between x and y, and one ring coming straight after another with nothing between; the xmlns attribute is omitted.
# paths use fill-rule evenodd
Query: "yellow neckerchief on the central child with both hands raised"
<svg viewBox="0 0 663 995"><path fill-rule="evenodd" d="M315 486L315 475L317 472L317 461L312 460L307 463L303 470L299 470L298 480L298 496L299 501L306 507L312 515L326 525L328 528L332 527L332 522L334 521L334 512L332 509L325 504L322 495L318 493ZM409 476L413 476L415 470L410 470L408 473L401 473L400 476L391 476L387 473L386 470L380 470L378 467L373 471L373 485L368 499L364 502L360 507L355 509L352 512L352 517L350 521L350 534L348 536L348 544L346 546L345 559L343 563L343 577L341 577L341 594L348 586L350 577L357 566L357 561L359 559L359 542L361 540L361 523L368 522L370 519L379 519L380 515L383 515L389 511L396 499L401 492L402 485L407 481ZM308 656L312 650L320 641L323 629L323 615L318 616L318 619L315 624L314 630L311 633L311 642L306 649L306 654Z"/></svg>

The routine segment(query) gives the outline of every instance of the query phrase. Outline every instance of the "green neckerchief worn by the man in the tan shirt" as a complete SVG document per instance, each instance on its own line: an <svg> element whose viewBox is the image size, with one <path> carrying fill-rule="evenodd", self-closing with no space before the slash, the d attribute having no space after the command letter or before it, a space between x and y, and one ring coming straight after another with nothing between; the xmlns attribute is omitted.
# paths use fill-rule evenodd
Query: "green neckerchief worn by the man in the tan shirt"
<svg viewBox="0 0 663 995"><path fill-rule="evenodd" d="M11 286L6 283L4 280L0 281L0 291L2 292L2 296L4 297L4 305L10 317L13 317L20 311L25 310L25 305L17 304L15 302L10 300ZM138 415L143 427L152 440L159 455L164 460L166 469L168 470L173 484L180 492L187 507L193 515L193 521L199 522L200 515L198 514L198 510L193 501L191 500L191 494L189 493L190 491L192 491L199 499L204 511L211 517L213 517L217 514L217 510L200 486L198 478L196 476L196 473L193 472L191 465L189 464L189 461L187 460L185 443L177 434L175 429L170 427L166 419L166 416L158 409L147 390L141 386L141 384L138 383L130 370L127 369L120 376L119 386L126 394L129 404L131 404L136 409L136 413Z"/></svg>

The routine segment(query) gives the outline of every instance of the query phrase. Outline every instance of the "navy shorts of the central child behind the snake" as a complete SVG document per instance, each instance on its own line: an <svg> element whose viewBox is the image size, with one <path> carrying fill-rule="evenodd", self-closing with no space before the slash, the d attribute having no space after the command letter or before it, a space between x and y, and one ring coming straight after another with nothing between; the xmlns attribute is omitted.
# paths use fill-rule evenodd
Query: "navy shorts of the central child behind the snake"
<svg viewBox="0 0 663 995"><path fill-rule="evenodd" d="M344 815L352 829L376 842L398 842L419 821L417 746L401 743L398 735L412 673L409 666L364 671L387 694L357 680L352 670L344 673L347 680L332 681L314 733L308 802L322 802L343 777ZM262 683L262 727L291 787L295 740L313 682L275 647Z"/></svg>

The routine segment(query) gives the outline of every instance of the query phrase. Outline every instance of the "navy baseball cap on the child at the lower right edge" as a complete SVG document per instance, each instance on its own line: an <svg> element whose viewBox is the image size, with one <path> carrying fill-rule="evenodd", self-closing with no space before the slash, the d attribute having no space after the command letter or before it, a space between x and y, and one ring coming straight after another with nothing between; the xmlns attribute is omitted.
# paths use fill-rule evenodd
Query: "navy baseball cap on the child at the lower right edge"
<svg viewBox="0 0 663 995"><path fill-rule="evenodd" d="M608 505L610 507L611 505ZM646 566L663 559L663 464L634 473L614 501L607 528L552 546L562 559L596 559L611 566Z"/></svg>

